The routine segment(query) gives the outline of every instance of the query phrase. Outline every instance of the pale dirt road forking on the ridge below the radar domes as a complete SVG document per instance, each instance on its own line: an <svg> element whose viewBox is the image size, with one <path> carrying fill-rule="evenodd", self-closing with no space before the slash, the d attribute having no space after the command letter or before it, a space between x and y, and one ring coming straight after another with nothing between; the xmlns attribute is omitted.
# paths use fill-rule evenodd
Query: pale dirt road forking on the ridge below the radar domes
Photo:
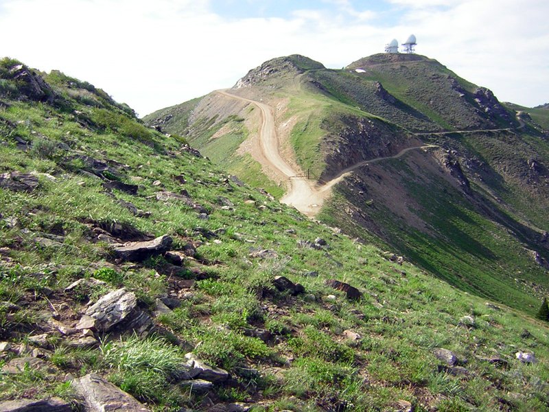
<svg viewBox="0 0 549 412"><path fill-rule="evenodd" d="M288 191L281 198L281 203L285 205L290 205L301 211L309 217L314 217L320 211L325 199L331 194L331 187L336 185L351 173L356 168L360 168L362 165L369 163L376 163L385 159L397 159L405 155L410 150L421 149L421 148L432 148L436 147L434 145L423 145L423 146L414 146L411 148L405 148L401 150L397 155L390 157L378 157L376 159L362 161L356 163L355 165L350 166L347 169L342 170L338 176L330 181L327 181L323 184L316 183L314 181L308 180L305 177L299 176L301 171L294 170L291 165L286 162L280 153L279 139L277 136L276 123L274 122L274 114L272 107L268 106L263 102L257 102L256 100L250 100L247 98L242 98L237 95L233 95L226 90L218 90L217 93L224 95L231 99L242 100L243 102L248 102L255 104L261 111L261 128L259 129L259 141L261 154L264 159L266 159L266 166L270 168L273 172L279 174L283 179L287 179Z"/></svg>

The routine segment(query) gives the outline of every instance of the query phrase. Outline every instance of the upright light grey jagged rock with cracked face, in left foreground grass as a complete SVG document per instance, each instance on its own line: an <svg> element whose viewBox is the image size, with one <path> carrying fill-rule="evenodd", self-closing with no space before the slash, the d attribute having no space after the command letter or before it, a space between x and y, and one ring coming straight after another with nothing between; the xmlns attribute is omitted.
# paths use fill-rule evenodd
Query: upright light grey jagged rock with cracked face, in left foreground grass
<svg viewBox="0 0 549 412"><path fill-rule="evenodd" d="M98 331L108 332L115 325L124 321L136 308L137 297L135 297L135 293L121 288L101 297L86 310L86 315L95 319L95 328ZM90 329L87 320L89 318L82 319L86 323L86 329Z"/></svg>

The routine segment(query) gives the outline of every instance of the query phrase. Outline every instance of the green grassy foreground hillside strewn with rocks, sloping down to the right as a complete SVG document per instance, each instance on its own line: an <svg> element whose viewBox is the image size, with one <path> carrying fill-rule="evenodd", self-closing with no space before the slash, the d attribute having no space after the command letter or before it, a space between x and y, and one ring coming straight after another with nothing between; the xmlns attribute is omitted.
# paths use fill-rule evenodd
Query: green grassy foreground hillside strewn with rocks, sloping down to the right
<svg viewBox="0 0 549 412"><path fill-rule="evenodd" d="M547 323L303 218L91 84L0 68L0 399L82 410L71 379L95 372L155 411L549 410ZM117 254L163 235L171 253ZM121 287L147 328L74 329ZM229 378L189 387L186 352Z"/></svg>

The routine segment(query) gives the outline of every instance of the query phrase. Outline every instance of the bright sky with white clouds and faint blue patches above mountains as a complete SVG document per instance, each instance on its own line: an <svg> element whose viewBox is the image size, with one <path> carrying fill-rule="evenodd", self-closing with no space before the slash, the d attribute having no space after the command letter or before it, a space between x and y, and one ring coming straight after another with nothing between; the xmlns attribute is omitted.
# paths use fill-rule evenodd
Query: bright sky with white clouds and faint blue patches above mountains
<svg viewBox="0 0 549 412"><path fill-rule="evenodd" d="M0 57L59 69L143 116L279 56L340 69L417 37L504 102L549 102L546 0L0 0Z"/></svg>

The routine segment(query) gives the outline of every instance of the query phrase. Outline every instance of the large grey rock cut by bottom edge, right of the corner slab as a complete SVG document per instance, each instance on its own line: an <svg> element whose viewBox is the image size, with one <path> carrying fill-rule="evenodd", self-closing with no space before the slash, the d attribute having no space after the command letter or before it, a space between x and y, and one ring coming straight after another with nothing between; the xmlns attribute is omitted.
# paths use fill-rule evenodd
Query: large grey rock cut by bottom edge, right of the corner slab
<svg viewBox="0 0 549 412"><path fill-rule="evenodd" d="M73 380L72 387L84 398L86 412L150 412L133 396L96 374Z"/></svg>

